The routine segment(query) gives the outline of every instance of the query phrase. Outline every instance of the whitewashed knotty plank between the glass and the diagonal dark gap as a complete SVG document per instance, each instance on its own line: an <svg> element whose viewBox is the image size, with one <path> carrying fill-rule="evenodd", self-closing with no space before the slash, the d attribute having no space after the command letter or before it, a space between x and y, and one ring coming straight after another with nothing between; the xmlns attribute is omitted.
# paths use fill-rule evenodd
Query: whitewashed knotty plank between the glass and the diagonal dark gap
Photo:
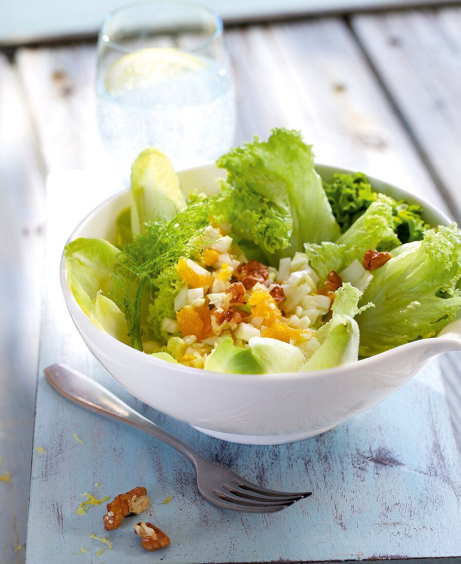
<svg viewBox="0 0 461 564"><path fill-rule="evenodd" d="M411 140L339 19L232 29L238 141L301 129L319 162L359 169L446 209Z"/></svg>

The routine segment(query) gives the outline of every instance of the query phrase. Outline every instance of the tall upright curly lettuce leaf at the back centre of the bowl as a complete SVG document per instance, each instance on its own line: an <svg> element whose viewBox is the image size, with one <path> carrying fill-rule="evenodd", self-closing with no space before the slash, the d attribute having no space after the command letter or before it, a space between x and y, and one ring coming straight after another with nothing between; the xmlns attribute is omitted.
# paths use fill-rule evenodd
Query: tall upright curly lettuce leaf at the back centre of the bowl
<svg viewBox="0 0 461 564"><path fill-rule="evenodd" d="M226 201L221 219L232 223L238 237L253 241L269 264L301 251L306 241L340 235L314 170L312 146L298 131L274 129L267 142L255 137L216 165L228 171L221 188Z"/></svg>

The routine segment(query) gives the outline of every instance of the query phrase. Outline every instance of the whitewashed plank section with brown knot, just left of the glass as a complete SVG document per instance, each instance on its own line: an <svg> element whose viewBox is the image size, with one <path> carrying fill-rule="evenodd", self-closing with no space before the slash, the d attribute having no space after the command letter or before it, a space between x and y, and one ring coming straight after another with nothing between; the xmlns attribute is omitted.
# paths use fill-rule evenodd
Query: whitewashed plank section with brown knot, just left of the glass
<svg viewBox="0 0 461 564"><path fill-rule="evenodd" d="M93 43L18 51L47 171L109 168L95 119L95 55Z"/></svg>

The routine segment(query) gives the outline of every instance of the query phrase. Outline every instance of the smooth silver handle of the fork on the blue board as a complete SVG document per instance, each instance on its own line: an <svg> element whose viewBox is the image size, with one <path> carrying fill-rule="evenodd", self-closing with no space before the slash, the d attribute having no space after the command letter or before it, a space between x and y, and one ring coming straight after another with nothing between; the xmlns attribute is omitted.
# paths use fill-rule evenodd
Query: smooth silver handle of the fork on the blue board
<svg viewBox="0 0 461 564"><path fill-rule="evenodd" d="M98 382L64 364L53 364L44 370L47 381L65 398L96 413L102 413L127 423L175 448L192 462L197 470L198 460L206 460L198 452L138 413Z"/></svg>

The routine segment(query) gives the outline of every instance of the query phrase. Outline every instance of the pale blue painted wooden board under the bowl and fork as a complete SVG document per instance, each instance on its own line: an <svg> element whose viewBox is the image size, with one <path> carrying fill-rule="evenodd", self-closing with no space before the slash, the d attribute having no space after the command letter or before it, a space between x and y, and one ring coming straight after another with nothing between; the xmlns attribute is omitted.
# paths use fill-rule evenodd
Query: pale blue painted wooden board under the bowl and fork
<svg viewBox="0 0 461 564"><path fill-rule="evenodd" d="M79 210L60 214L60 226L49 224L28 564L461 561L460 465L437 361L380 406L314 439L255 447L207 437L131 398L86 350L57 280L72 213ZM195 490L192 466L179 453L56 394L43 376L43 368L54 362L90 374L210 460L251 481L282 490L312 489L314 495L269 515L224 512L206 503ZM138 517L105 532L103 506L76 514L84 492L112 498L138 485L152 500L142 519L171 537L169 547L154 553L142 549L132 531ZM90 533L107 537L113 549L90 539ZM76 554L81 547L88 552Z"/></svg>

